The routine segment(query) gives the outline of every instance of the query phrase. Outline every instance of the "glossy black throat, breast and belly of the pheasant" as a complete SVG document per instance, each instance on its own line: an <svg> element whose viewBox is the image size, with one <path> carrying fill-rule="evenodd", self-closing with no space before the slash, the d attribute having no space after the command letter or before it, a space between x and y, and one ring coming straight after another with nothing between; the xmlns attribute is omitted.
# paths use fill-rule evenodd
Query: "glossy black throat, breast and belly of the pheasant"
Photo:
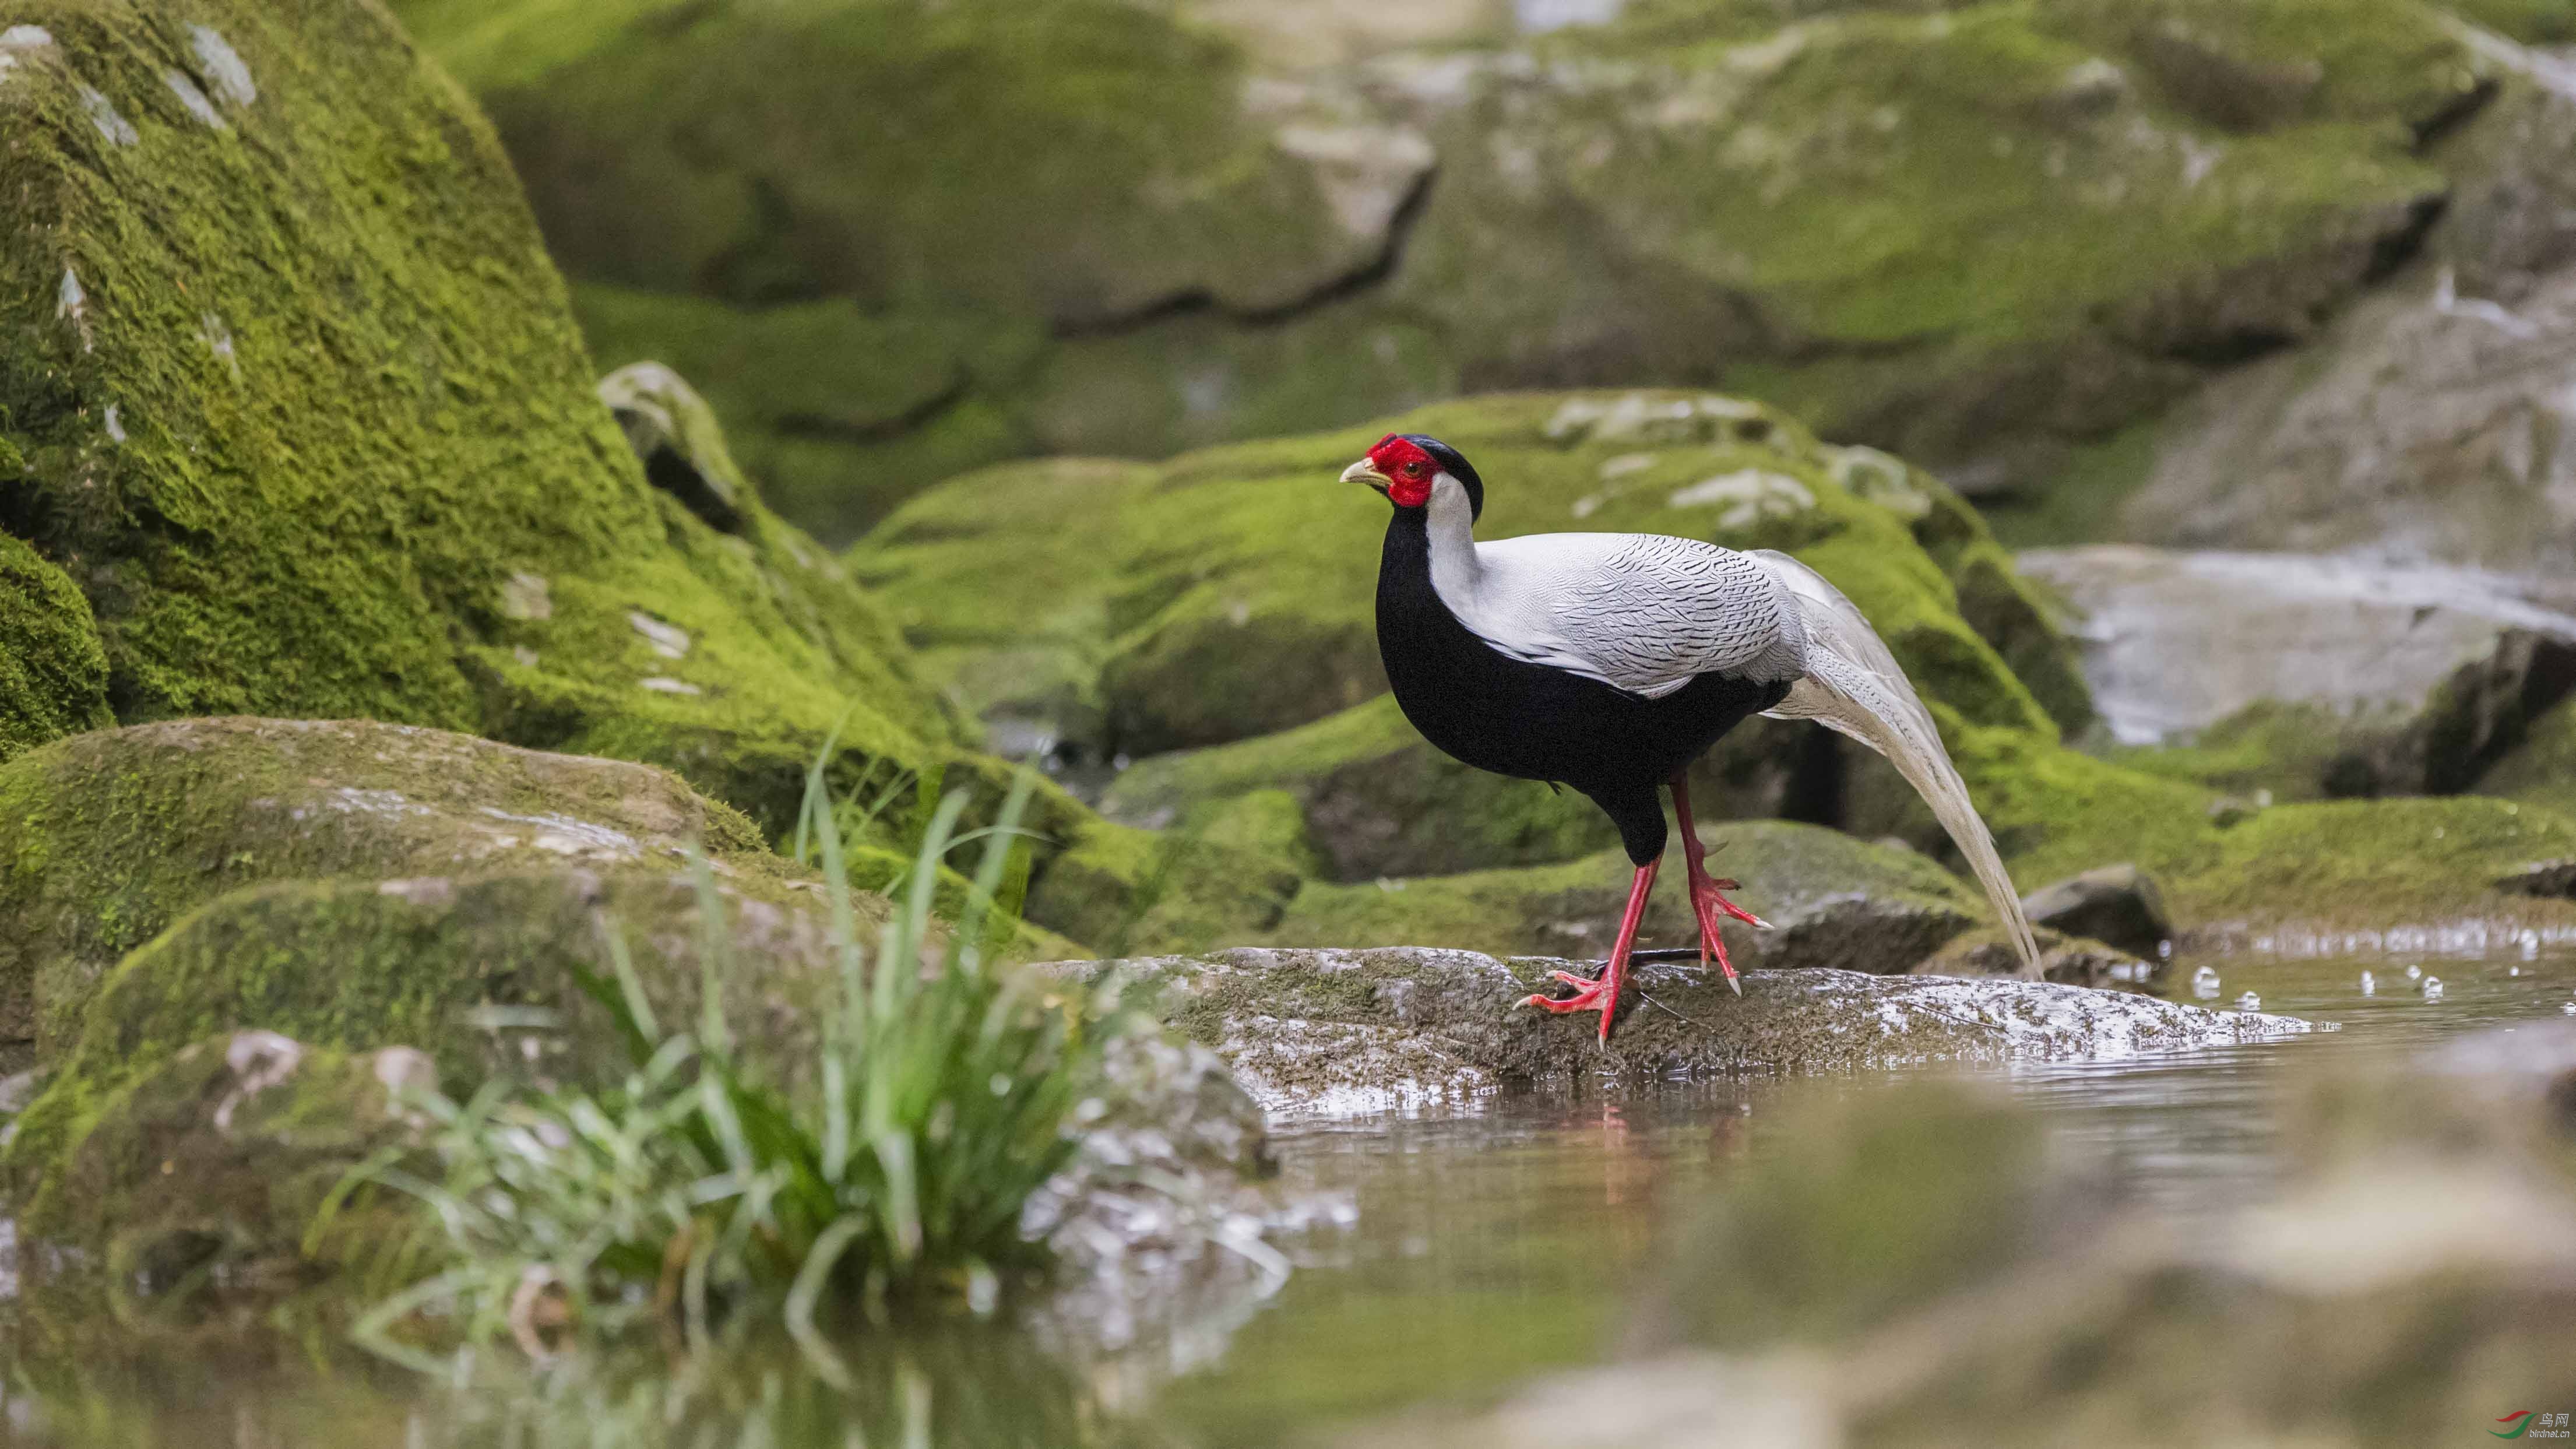
<svg viewBox="0 0 2576 1449"><path fill-rule="evenodd" d="M1654 792L1721 735L1788 696L1788 683L1710 673L1643 699L1494 650L1432 590L1419 511L1396 511L1386 534L1378 652L1396 704L1425 740L1481 771L1584 792L1610 812L1628 856L1641 864L1664 848Z"/></svg>

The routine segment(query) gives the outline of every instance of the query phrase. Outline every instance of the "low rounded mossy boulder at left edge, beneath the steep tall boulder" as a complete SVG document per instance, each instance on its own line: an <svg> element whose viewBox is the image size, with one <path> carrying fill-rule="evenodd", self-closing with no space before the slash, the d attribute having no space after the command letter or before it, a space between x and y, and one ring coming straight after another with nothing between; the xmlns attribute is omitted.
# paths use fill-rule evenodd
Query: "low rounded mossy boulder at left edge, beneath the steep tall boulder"
<svg viewBox="0 0 2576 1449"><path fill-rule="evenodd" d="M0 768L0 1039L18 1060L59 1055L118 959L232 890L567 864L670 874L685 851L742 890L788 892L750 820L652 766L361 722L80 735ZM330 975L319 954L304 969Z"/></svg>

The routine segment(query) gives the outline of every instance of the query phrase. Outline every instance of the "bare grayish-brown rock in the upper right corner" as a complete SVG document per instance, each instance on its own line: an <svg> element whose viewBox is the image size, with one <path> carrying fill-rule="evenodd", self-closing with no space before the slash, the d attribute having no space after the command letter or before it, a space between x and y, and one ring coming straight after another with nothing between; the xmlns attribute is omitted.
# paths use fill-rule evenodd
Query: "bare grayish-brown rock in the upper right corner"
<svg viewBox="0 0 2576 1449"><path fill-rule="evenodd" d="M2120 536L2576 562L2576 75L2486 34L2470 44L2509 80L2445 155L2458 180L2424 260L2311 345L2177 407Z"/></svg>

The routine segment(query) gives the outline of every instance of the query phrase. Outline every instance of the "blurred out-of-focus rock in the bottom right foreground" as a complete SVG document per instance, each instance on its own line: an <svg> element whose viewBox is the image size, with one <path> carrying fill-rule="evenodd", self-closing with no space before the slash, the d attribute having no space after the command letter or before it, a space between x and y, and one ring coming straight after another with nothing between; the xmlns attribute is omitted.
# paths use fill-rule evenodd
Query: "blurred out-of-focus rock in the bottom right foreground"
<svg viewBox="0 0 2576 1449"><path fill-rule="evenodd" d="M1340 1444L2396 1446L2576 1403L2576 1024L2285 1091L2290 1178L2192 1222L1986 1093L1808 1104L1623 1361Z"/></svg>

